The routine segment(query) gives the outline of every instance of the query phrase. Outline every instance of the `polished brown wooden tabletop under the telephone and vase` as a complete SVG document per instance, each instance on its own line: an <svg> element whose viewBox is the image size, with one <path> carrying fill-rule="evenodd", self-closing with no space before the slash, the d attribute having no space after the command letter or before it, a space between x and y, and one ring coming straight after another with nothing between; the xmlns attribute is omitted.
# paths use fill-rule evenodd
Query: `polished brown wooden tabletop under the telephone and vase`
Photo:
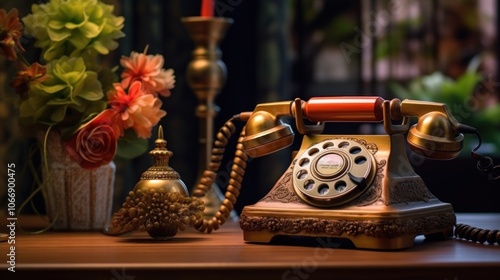
<svg viewBox="0 0 500 280"><path fill-rule="evenodd" d="M500 213L458 214L457 219L500 229ZM20 217L18 224L30 221L33 217ZM1 279L500 279L500 246L455 239L417 237L413 247L390 252L326 248L315 239L249 244L230 222L212 234L188 229L162 242L144 232L112 237L19 230L15 240L15 274L6 264L11 245L0 243Z"/></svg>

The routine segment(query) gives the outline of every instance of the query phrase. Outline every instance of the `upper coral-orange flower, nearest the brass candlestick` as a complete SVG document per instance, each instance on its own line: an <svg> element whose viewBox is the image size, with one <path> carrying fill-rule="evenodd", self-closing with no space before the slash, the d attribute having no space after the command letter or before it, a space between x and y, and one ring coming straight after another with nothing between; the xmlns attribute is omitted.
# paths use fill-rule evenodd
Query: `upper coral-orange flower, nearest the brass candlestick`
<svg viewBox="0 0 500 280"><path fill-rule="evenodd" d="M147 55L146 52L147 47L144 53L132 52L130 57L122 56L120 63L125 68L121 74L122 86L127 88L132 82L141 81L147 92L155 96L170 96L170 89L175 85L174 70L163 69L162 55Z"/></svg>

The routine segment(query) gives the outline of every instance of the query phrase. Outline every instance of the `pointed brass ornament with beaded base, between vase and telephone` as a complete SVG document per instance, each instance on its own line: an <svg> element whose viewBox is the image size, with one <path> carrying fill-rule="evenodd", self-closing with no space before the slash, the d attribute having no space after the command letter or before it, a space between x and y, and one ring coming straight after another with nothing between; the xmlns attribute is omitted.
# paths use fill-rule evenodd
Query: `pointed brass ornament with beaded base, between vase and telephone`
<svg viewBox="0 0 500 280"><path fill-rule="evenodd" d="M109 235L121 235L136 229L146 230L154 239L168 240L177 230L196 224L205 206L198 198L189 197L179 173L169 166L173 153L158 128L155 148L149 152L153 166L142 173L122 208L113 215Z"/></svg>

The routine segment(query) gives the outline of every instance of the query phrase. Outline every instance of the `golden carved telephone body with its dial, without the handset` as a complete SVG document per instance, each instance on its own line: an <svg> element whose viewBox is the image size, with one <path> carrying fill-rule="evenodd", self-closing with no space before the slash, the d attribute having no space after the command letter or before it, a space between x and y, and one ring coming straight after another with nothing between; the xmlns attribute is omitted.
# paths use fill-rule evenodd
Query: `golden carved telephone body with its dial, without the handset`
<svg viewBox="0 0 500 280"><path fill-rule="evenodd" d="M304 136L271 191L244 207L245 241L333 237L357 248L392 250L411 247L417 235L451 237L453 208L415 174L405 142L399 134Z"/></svg>

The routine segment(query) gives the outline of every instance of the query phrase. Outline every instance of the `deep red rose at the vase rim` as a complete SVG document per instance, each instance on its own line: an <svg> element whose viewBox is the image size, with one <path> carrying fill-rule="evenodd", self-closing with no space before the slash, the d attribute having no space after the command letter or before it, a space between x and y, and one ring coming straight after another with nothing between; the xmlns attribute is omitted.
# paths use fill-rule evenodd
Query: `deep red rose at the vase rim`
<svg viewBox="0 0 500 280"><path fill-rule="evenodd" d="M112 121L115 116L114 110L104 110L66 141L66 151L81 167L95 169L113 160L117 146Z"/></svg>

